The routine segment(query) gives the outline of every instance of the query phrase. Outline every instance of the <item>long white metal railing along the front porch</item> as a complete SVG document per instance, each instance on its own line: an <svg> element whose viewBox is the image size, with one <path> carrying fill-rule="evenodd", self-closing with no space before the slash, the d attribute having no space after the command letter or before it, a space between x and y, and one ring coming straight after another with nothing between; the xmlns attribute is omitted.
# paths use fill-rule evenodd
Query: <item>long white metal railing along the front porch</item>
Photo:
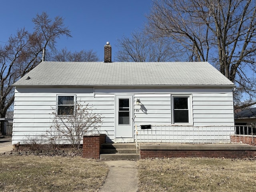
<svg viewBox="0 0 256 192"><path fill-rule="evenodd" d="M239 134L240 137L252 137L251 126L240 126L240 129L246 133L246 135ZM231 140L231 136L235 137ZM237 137L238 133L234 126L152 125L150 129L141 129L137 126L136 142L192 144L241 142L242 139L236 140Z"/></svg>

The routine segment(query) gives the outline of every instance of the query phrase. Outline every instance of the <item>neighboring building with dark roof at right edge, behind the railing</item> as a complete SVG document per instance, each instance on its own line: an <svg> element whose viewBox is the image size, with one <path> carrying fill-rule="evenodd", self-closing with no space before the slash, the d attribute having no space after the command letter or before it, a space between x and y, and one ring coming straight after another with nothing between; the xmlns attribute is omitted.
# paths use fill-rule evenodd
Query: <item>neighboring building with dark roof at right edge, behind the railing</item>
<svg viewBox="0 0 256 192"><path fill-rule="evenodd" d="M236 134L256 135L256 108L235 111Z"/></svg>

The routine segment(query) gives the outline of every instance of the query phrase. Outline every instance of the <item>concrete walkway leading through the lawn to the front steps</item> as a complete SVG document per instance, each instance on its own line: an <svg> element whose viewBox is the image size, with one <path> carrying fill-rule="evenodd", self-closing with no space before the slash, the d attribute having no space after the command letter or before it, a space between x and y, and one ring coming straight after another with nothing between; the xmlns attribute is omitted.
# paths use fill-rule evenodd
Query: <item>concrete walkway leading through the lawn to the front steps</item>
<svg viewBox="0 0 256 192"><path fill-rule="evenodd" d="M137 192L138 170L136 161L106 161L109 166L106 182L99 192Z"/></svg>

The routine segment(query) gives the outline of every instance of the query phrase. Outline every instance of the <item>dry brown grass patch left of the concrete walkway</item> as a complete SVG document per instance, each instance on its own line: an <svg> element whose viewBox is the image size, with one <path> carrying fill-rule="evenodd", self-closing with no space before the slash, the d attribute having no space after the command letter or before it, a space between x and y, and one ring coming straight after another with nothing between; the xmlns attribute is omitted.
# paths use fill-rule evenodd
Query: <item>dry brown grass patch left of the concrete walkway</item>
<svg viewBox="0 0 256 192"><path fill-rule="evenodd" d="M81 157L0 156L0 191L97 191L108 167Z"/></svg>

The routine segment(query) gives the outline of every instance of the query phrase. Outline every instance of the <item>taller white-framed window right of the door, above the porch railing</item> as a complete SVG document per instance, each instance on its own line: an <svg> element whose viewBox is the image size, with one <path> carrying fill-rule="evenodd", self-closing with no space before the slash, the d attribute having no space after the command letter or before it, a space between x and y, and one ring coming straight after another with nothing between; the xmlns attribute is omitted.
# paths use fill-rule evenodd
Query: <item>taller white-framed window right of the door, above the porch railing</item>
<svg viewBox="0 0 256 192"><path fill-rule="evenodd" d="M191 96L173 95L172 96L172 123L173 124L192 124L191 116Z"/></svg>

